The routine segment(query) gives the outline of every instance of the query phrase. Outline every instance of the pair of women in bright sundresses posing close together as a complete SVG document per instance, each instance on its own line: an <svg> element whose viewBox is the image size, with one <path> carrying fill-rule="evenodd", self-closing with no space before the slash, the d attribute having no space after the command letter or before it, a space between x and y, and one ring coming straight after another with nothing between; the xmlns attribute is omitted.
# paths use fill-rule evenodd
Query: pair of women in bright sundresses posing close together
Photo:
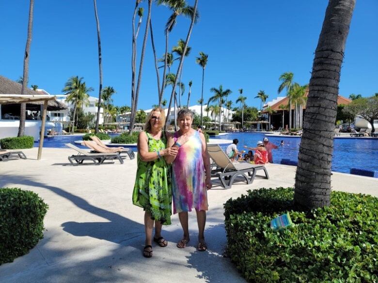
<svg viewBox="0 0 378 283"><path fill-rule="evenodd" d="M189 242L188 212L194 208L199 227L198 250L207 249L204 237L208 206L206 190L211 188L211 179L205 137L191 128L193 114L189 109L180 110L177 120L180 130L173 136L164 133L161 131L165 123L164 110L154 108L138 138L133 204L145 211L145 257L152 256L152 239L160 247L168 244L161 236L161 226L171 224L172 194L173 213L179 213L184 231L177 247L185 248ZM155 236L152 237L154 222Z"/></svg>

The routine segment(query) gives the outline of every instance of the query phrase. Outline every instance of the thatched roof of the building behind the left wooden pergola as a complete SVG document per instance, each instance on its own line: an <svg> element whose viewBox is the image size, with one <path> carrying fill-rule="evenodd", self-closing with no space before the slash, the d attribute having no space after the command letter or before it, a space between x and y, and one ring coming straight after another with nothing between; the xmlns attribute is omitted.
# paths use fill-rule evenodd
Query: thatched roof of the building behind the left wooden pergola
<svg viewBox="0 0 378 283"><path fill-rule="evenodd" d="M0 75L0 94L21 94L21 89L22 85L19 83L16 83L13 80L10 80L2 75ZM32 89L26 89L24 94L29 94L29 95L41 95L41 93L32 90ZM43 101L29 101L27 104L33 104L33 105L42 105L44 102ZM68 107L55 100L49 100L47 103L47 111L58 111L58 110L64 110L67 109Z"/></svg>

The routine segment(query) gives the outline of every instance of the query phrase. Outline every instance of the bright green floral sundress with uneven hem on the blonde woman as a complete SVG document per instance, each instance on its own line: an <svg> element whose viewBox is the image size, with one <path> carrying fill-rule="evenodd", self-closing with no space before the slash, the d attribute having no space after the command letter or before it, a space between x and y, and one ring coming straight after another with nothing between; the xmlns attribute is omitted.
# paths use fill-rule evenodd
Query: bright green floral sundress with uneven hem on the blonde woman
<svg viewBox="0 0 378 283"><path fill-rule="evenodd" d="M148 151L157 152L165 149L167 138L162 132L161 138L156 140L145 132L148 138ZM154 161L144 162L137 156L138 169L133 191L133 204L150 212L151 219L162 224L171 224L172 215L172 181L171 165L164 157Z"/></svg>

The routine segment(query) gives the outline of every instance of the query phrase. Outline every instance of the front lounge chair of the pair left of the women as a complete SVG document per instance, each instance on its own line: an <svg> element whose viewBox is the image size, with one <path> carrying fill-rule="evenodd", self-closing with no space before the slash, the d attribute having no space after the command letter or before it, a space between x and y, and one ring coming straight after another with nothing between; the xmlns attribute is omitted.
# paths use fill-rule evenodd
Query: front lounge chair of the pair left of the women
<svg viewBox="0 0 378 283"><path fill-rule="evenodd" d="M96 165L103 164L103 162L107 159L110 159L110 160L118 159L121 164L124 163L119 153L90 153L90 152L85 151L84 149L80 149L77 146L74 146L73 144L65 144L65 145L66 147L75 149L76 151L79 152L78 155L68 156L68 161L74 166L83 164L84 160L92 161ZM73 161L75 161L76 163L74 163Z"/></svg>

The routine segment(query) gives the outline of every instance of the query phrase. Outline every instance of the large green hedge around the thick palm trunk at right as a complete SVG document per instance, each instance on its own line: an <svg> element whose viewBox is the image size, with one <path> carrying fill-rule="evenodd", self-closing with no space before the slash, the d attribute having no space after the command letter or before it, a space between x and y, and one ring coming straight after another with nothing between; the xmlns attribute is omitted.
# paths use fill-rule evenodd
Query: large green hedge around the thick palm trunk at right
<svg viewBox="0 0 378 283"><path fill-rule="evenodd" d="M227 253L249 282L378 282L378 198L331 193L331 206L303 211L292 188L248 191L224 205ZM296 225L273 231L290 212Z"/></svg>

